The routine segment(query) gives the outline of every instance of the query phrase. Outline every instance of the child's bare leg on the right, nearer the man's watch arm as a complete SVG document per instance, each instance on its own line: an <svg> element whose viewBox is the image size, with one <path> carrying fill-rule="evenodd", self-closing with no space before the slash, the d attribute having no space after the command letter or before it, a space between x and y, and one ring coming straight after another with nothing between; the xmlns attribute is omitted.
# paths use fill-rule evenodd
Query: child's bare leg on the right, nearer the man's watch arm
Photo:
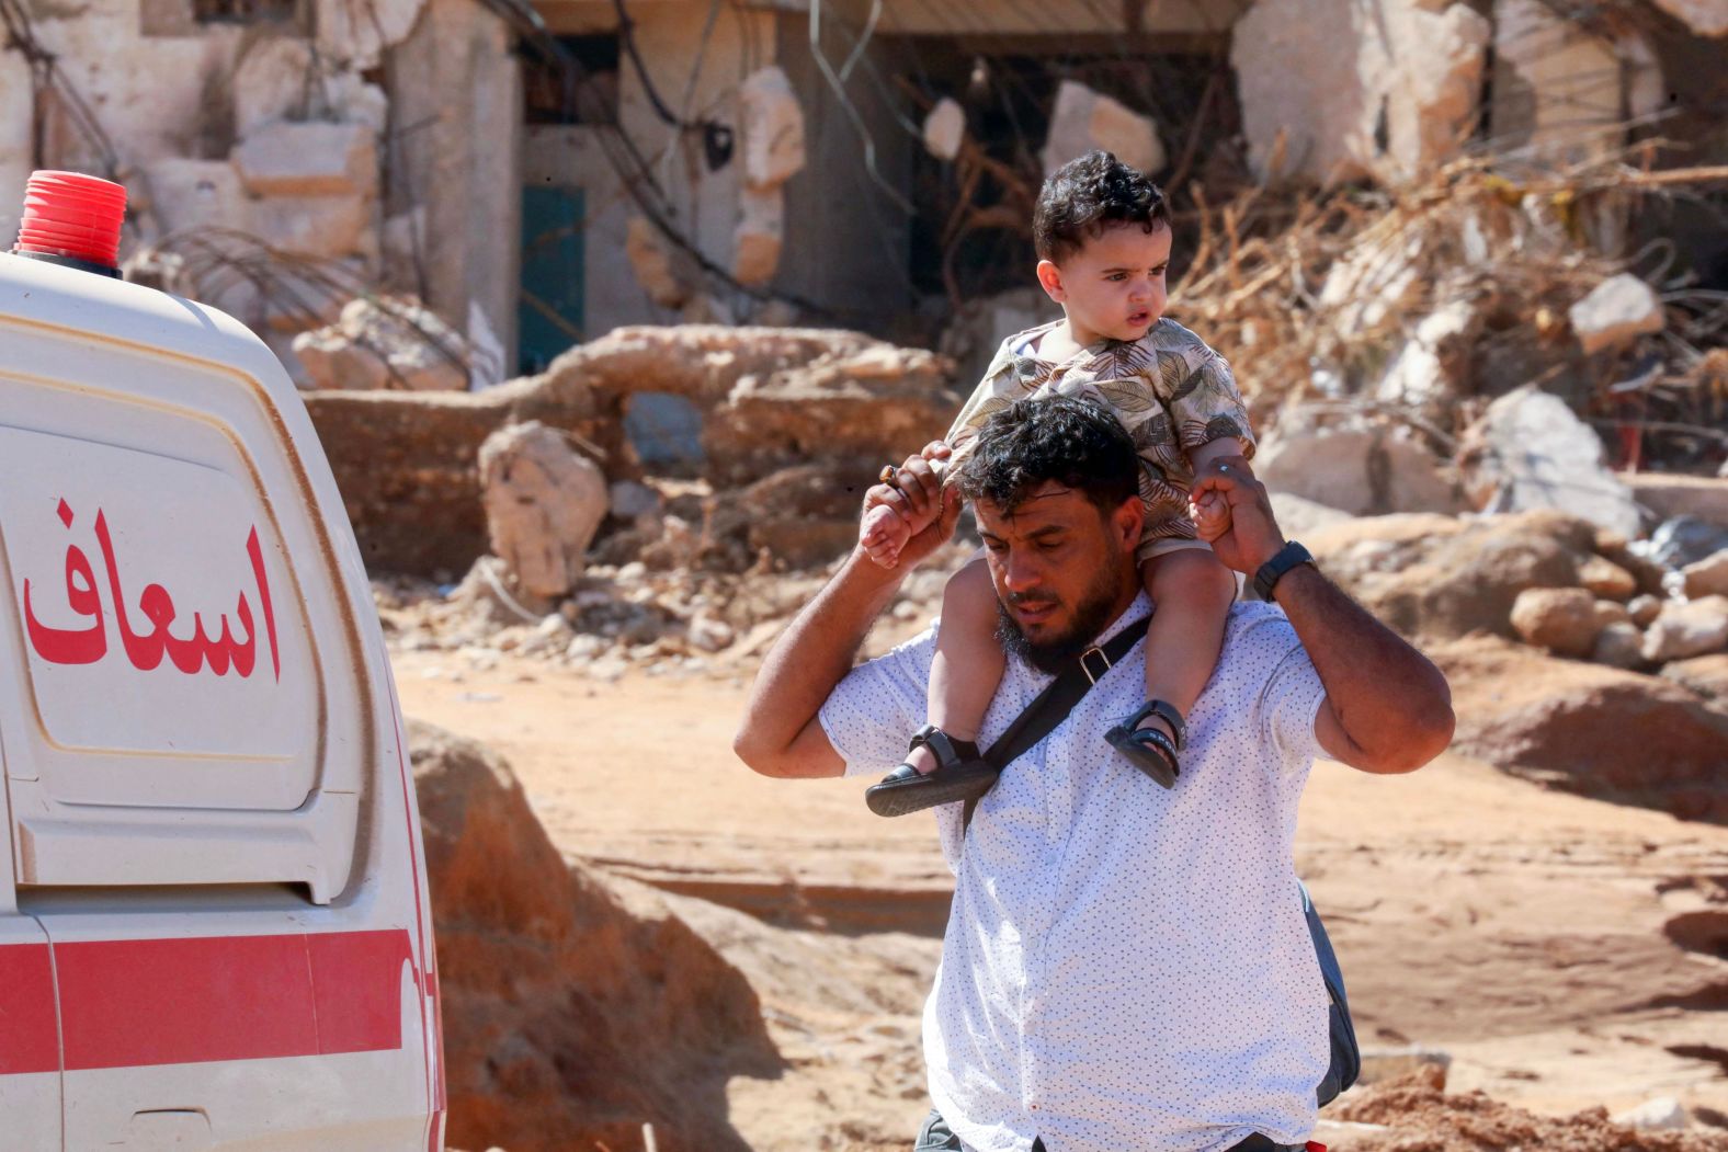
<svg viewBox="0 0 1728 1152"><path fill-rule="evenodd" d="M1210 548L1182 548L1142 561L1140 579L1156 606L1146 629L1146 698L1168 701L1187 717L1223 649L1236 575ZM1175 737L1156 715L1140 727Z"/></svg>

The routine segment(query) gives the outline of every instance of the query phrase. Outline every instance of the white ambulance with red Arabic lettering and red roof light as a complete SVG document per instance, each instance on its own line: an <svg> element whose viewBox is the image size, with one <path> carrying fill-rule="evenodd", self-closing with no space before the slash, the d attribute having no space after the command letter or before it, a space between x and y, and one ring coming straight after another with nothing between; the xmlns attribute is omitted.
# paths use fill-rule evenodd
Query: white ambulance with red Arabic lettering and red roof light
<svg viewBox="0 0 1728 1152"><path fill-rule="evenodd" d="M437 1152L437 967L354 534L275 356L36 173L0 254L0 1150Z"/></svg>

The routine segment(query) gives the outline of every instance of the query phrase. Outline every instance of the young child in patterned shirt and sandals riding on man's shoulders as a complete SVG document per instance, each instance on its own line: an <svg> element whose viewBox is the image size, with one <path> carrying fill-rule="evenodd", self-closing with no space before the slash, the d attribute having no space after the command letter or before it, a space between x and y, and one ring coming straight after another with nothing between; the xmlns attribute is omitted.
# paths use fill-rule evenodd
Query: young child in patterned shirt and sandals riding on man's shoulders
<svg viewBox="0 0 1728 1152"><path fill-rule="evenodd" d="M1104 734L1165 788L1175 784L1184 717L1211 677L1236 577L1204 541L1229 529L1217 492L1189 503L1196 468L1253 456L1248 409L1223 358L1163 318L1173 240L1158 187L1108 152L1059 168L1032 221L1039 283L1063 320L1009 337L949 430L959 463L988 416L1037 394L1087 396L1116 413L1140 454L1146 527L1135 560L1156 604L1146 639L1146 699ZM885 470L886 480L886 470ZM883 565L923 523L907 523L873 489L861 542ZM869 789L881 815L904 815L982 794L995 772L980 760L978 729L1002 679L997 603L985 560L957 572L942 598L930 670L930 725L905 763Z"/></svg>

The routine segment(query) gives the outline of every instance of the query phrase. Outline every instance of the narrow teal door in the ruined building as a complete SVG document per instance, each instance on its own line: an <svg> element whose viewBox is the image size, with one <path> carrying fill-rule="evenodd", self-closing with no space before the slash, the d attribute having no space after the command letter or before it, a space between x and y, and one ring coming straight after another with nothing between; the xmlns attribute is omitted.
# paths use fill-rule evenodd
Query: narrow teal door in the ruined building
<svg viewBox="0 0 1728 1152"><path fill-rule="evenodd" d="M522 188L517 371L544 371L582 342L582 190Z"/></svg>

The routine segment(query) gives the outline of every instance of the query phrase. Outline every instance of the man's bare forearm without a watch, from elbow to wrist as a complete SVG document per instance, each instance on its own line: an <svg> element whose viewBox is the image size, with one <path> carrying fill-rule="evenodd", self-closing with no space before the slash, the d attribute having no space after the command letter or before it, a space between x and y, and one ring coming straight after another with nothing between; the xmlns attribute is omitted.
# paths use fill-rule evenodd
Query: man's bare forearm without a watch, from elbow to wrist
<svg viewBox="0 0 1728 1152"><path fill-rule="evenodd" d="M793 617L757 672L733 739L745 763L772 775L791 774L779 758L852 670L864 636L893 599L904 572L885 570L854 549L816 599Z"/></svg>

